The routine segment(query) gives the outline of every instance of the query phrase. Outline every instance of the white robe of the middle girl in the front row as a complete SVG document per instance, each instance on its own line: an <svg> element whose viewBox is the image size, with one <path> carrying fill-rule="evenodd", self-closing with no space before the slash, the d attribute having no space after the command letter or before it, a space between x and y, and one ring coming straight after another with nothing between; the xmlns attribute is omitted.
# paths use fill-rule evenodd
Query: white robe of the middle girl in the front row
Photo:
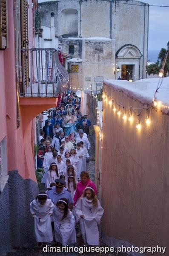
<svg viewBox="0 0 169 256"><path fill-rule="evenodd" d="M76 243L74 216L69 210L66 218L62 220L63 214L63 210L60 210L57 206L53 208L55 241L62 245L74 244Z"/></svg>

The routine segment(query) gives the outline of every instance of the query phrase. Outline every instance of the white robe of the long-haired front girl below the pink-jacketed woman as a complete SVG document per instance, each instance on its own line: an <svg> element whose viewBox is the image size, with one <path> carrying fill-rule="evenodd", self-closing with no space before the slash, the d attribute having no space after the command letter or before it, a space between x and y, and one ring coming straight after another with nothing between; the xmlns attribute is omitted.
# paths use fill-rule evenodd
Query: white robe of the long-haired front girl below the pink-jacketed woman
<svg viewBox="0 0 169 256"><path fill-rule="evenodd" d="M76 221L80 221L80 230L82 232L84 244L99 245L99 231L97 223L103 215L103 208L97 200L97 207L93 205L92 200L86 197L81 198L76 208ZM84 218L80 216L84 215Z"/></svg>

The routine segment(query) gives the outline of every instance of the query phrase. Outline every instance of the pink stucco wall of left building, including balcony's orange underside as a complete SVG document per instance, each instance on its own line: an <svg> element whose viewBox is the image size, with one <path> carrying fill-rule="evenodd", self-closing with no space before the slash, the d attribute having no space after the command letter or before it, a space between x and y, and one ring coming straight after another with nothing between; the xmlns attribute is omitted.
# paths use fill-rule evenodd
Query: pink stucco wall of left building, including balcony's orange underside
<svg viewBox="0 0 169 256"><path fill-rule="evenodd" d="M9 47L0 50L0 141L7 137L8 171L18 170L21 177L36 182L34 172L34 117L54 107L56 99L20 99L20 127L17 129L17 90L15 77L14 6L8 0ZM29 47L33 41L32 0L29 0Z"/></svg>

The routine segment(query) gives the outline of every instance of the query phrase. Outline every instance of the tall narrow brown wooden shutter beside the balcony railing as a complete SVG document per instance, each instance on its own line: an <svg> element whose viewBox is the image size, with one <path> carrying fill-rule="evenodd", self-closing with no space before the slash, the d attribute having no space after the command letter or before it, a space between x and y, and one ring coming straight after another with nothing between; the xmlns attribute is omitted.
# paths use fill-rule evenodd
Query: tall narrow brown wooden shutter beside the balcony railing
<svg viewBox="0 0 169 256"><path fill-rule="evenodd" d="M29 85L29 37L28 37L28 3L20 0L20 32L22 49L23 89Z"/></svg>

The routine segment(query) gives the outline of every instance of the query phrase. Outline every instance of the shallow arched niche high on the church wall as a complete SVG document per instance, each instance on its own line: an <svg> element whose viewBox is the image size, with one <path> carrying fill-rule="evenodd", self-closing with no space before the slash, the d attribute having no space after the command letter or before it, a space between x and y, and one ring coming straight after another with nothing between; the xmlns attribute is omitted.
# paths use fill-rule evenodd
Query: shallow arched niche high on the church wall
<svg viewBox="0 0 169 256"><path fill-rule="evenodd" d="M62 35L78 35L78 12L76 9L64 9L61 12Z"/></svg>

